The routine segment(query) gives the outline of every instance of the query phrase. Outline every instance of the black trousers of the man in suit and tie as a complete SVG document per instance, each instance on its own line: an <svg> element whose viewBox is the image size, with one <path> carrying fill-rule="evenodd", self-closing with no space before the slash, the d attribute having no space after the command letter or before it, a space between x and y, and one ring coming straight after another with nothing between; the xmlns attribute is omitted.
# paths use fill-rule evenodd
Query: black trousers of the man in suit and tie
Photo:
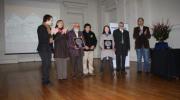
<svg viewBox="0 0 180 100"><path fill-rule="evenodd" d="M126 54L116 54L116 71L125 71Z"/></svg>

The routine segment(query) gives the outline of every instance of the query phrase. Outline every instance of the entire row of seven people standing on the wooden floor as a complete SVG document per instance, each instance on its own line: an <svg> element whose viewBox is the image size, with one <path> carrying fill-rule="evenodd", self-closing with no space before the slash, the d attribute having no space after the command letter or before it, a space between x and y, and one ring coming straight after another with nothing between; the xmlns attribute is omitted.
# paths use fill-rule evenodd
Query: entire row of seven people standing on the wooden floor
<svg viewBox="0 0 180 100"><path fill-rule="evenodd" d="M86 23L84 30L80 31L80 25L74 23L72 29L68 30L64 27L63 20L58 20L55 28L52 28L52 18L51 15L44 15L43 23L37 29L39 40L37 50L42 60L42 83L50 83L49 73L52 53L54 53L58 79L67 79L67 61L69 58L72 78L95 75L93 55L97 46L97 38L95 33L91 31L91 25ZM145 62L144 71L149 72L148 39L151 35L149 28L143 26L143 22L143 18L138 19L138 27L134 29L133 37L136 45L138 72L142 71L142 57ZM106 61L109 62L110 72L126 73L125 59L130 50L130 39L129 32L124 29L123 22L119 22L119 28L113 33L111 33L108 25L104 26L100 35L100 48L100 73L103 73L104 62ZM116 59L116 69L113 67L114 59Z"/></svg>

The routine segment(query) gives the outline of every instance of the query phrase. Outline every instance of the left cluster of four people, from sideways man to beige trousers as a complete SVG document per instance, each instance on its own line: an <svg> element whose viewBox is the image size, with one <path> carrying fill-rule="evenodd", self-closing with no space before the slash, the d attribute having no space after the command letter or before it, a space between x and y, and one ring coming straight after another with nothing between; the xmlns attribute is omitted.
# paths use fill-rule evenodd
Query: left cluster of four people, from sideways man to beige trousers
<svg viewBox="0 0 180 100"><path fill-rule="evenodd" d="M52 53L55 58L58 79L67 79L69 58L72 78L94 75L93 51L97 45L97 39L94 32L91 31L91 25L85 24L84 30L80 31L80 25L74 23L73 28L68 30L64 27L63 20L58 20L55 28L51 28L52 18L51 15L45 15L42 25L37 29L39 40L37 50L42 60L42 83L50 83L49 70ZM82 45L77 45L79 42L76 43L75 39L80 39L79 42Z"/></svg>

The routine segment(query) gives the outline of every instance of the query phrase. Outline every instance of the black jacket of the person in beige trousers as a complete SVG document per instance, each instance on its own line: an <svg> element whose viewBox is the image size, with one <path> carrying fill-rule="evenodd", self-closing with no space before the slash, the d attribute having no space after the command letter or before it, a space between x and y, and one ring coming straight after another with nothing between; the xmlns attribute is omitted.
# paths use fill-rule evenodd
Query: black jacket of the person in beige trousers
<svg viewBox="0 0 180 100"><path fill-rule="evenodd" d="M96 47L97 39L96 39L94 32L90 31L89 33L87 33L85 31L83 31L83 36L84 36L84 41L85 41L86 46L88 46L88 47L95 46ZM93 50L84 49L84 51L93 51Z"/></svg>

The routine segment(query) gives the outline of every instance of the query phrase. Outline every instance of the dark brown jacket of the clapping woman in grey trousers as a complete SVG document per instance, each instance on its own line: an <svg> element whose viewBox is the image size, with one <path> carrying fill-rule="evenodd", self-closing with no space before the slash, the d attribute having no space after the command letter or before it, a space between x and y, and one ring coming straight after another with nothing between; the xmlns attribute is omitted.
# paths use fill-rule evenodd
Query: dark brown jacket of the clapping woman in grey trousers
<svg viewBox="0 0 180 100"><path fill-rule="evenodd" d="M56 33L54 36L54 58L68 57L67 34Z"/></svg>

